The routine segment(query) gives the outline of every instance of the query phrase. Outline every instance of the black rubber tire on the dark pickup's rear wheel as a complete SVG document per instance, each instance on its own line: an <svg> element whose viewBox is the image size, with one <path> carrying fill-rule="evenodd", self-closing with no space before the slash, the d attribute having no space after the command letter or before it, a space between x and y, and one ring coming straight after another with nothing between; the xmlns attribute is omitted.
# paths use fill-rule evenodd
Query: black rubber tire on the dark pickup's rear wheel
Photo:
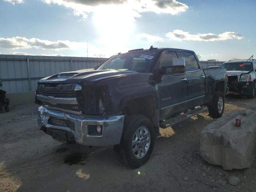
<svg viewBox="0 0 256 192"><path fill-rule="evenodd" d="M221 98L222 98L222 110L220 111L219 102L221 102ZM212 104L208 106L210 116L213 118L221 117L224 112L224 106L225 106L224 94L220 91L216 91L213 96Z"/></svg>

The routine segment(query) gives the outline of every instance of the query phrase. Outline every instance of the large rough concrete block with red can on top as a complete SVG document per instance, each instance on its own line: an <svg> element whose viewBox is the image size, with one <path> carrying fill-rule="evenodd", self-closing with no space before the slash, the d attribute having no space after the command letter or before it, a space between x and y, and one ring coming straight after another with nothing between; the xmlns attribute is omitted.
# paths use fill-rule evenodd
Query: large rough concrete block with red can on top
<svg viewBox="0 0 256 192"><path fill-rule="evenodd" d="M241 119L240 127L235 126L236 118ZM256 156L256 111L230 112L206 126L200 153L208 163L226 170L250 167Z"/></svg>

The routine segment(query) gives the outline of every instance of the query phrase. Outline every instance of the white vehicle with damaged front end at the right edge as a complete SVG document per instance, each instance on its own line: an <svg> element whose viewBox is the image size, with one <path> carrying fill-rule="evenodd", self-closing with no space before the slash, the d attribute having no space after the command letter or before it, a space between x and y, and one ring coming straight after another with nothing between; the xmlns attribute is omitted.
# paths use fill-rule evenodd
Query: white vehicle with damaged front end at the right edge
<svg viewBox="0 0 256 192"><path fill-rule="evenodd" d="M253 99L256 89L256 60L230 60L220 67L228 73L228 90Z"/></svg>

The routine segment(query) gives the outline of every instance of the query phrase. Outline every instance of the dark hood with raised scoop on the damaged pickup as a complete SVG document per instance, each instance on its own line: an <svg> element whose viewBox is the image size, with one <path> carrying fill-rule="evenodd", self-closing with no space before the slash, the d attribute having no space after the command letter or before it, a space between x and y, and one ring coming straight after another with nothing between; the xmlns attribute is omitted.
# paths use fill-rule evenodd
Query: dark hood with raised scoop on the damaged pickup
<svg viewBox="0 0 256 192"><path fill-rule="evenodd" d="M39 82L61 82L93 85L100 80L138 74L138 72L127 70L78 70L58 73L53 76L43 78Z"/></svg>

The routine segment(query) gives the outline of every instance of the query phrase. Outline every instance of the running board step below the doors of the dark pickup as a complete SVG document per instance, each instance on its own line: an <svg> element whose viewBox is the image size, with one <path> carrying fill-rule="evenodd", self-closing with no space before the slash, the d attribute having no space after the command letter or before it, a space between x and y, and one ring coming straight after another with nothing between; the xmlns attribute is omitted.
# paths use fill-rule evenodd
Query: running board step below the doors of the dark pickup
<svg viewBox="0 0 256 192"><path fill-rule="evenodd" d="M182 121L184 121L184 120L186 120L186 119L188 119L188 118L190 118L192 116L195 116L195 115L197 115L199 113L202 113L202 112L204 112L206 110L207 110L207 107L198 107L198 108L195 108L194 110L190 110L190 111L188 111L188 112L186 112L184 114L180 114L180 115L178 115L176 117L168 118L168 119L163 120L162 122L160 122L160 128L164 128L164 129L168 128L168 127L170 127L172 125L175 125L175 124L177 124L179 122L182 122Z"/></svg>

